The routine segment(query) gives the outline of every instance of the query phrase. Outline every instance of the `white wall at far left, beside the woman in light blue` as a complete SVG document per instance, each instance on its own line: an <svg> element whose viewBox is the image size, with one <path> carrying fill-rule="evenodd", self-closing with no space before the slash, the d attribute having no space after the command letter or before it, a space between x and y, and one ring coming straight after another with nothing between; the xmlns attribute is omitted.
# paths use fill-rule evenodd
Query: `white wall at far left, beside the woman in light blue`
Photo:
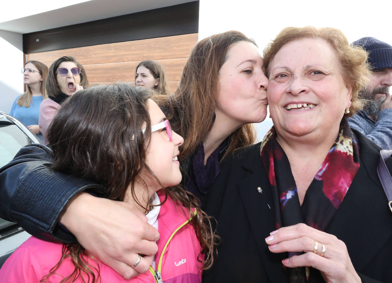
<svg viewBox="0 0 392 283"><path fill-rule="evenodd" d="M23 93L22 34L0 30L0 111L9 112L15 98Z"/></svg>

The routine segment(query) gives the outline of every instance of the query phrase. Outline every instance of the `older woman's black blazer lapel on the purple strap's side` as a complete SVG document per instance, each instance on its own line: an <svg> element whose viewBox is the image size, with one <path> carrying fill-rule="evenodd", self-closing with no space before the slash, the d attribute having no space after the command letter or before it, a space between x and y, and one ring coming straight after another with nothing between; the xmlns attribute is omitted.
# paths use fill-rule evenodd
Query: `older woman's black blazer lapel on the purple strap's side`
<svg viewBox="0 0 392 283"><path fill-rule="evenodd" d="M350 259L361 272L392 236L392 214L378 179L378 147L359 138L361 165L325 232L345 242Z"/></svg>

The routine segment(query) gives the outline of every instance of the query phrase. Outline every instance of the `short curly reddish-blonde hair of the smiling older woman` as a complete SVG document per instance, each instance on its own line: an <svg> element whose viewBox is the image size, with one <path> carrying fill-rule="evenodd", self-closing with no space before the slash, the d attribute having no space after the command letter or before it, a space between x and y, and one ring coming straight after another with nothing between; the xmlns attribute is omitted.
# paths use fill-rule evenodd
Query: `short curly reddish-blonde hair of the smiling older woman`
<svg viewBox="0 0 392 283"><path fill-rule="evenodd" d="M332 27L286 27L264 49L264 66L269 72L269 64L283 45L303 38L319 38L325 40L338 58L341 74L346 83L352 85L352 97L350 113L344 114L344 118L351 117L363 107L363 101L358 98L358 92L368 83L370 74L367 62L367 53L359 46L351 46L346 36Z"/></svg>

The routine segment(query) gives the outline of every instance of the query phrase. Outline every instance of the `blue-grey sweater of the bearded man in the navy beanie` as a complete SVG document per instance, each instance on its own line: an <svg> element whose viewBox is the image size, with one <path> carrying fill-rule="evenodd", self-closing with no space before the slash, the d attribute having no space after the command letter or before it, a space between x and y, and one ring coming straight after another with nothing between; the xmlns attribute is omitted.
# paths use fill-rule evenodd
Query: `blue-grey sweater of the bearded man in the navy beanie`
<svg viewBox="0 0 392 283"><path fill-rule="evenodd" d="M347 120L352 129L360 131L382 149L392 149L392 108L380 111L377 122L363 110Z"/></svg>

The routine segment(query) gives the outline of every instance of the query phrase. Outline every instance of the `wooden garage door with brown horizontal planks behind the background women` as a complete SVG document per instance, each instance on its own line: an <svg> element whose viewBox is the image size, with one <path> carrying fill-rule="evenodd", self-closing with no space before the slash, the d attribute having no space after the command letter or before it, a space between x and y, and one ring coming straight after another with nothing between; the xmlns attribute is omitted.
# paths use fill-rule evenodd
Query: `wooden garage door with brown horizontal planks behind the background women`
<svg viewBox="0 0 392 283"><path fill-rule="evenodd" d="M71 55L86 70L90 85L135 82L135 68L143 60L156 60L165 69L171 91L180 82L181 73L198 34L183 34L112 44L62 49L26 55L26 62L37 60L48 67L57 58Z"/></svg>

